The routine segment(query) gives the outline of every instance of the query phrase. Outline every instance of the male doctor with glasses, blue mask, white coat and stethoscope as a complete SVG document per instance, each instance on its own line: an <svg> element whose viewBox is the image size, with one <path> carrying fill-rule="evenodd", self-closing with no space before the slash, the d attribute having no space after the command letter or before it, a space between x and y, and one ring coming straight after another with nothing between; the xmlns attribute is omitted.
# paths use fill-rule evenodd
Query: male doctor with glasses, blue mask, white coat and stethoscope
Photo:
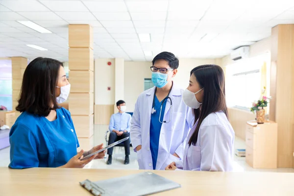
<svg viewBox="0 0 294 196"><path fill-rule="evenodd" d="M182 100L183 90L172 81L179 60L161 52L152 61L153 88L137 99L130 136L139 169L164 170L183 158L185 140L194 125L192 109Z"/></svg>

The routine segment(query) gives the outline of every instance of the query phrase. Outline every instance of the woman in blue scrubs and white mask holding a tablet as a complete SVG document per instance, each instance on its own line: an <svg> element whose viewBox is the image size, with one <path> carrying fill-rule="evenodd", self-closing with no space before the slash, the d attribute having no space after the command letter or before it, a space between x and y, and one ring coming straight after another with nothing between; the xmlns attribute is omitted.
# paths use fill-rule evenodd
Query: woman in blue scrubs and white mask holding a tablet
<svg viewBox="0 0 294 196"><path fill-rule="evenodd" d="M10 168L83 168L104 157L105 151L80 160L103 145L77 153L71 114L58 106L68 98L70 88L60 61L39 57L28 64L16 107L21 115L9 134Z"/></svg>

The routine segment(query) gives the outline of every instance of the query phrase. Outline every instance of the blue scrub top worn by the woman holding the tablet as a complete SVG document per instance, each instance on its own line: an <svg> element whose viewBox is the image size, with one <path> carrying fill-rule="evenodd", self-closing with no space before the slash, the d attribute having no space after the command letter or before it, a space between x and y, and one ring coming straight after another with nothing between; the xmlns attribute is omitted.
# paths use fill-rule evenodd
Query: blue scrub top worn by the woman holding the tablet
<svg viewBox="0 0 294 196"><path fill-rule="evenodd" d="M28 112L19 116L9 134L10 168L55 168L77 154L79 143L70 112L60 108L56 113L52 122Z"/></svg>

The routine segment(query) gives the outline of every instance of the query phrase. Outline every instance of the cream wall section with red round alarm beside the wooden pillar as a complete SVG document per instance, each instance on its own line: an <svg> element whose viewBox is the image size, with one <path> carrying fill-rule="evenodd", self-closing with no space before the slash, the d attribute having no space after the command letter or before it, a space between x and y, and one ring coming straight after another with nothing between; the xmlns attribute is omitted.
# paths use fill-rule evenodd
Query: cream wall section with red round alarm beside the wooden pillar
<svg viewBox="0 0 294 196"><path fill-rule="evenodd" d="M111 62L111 66L107 62ZM95 59L95 105L115 104L115 59ZM70 78L71 79L71 78ZM107 87L111 87L108 91Z"/></svg>

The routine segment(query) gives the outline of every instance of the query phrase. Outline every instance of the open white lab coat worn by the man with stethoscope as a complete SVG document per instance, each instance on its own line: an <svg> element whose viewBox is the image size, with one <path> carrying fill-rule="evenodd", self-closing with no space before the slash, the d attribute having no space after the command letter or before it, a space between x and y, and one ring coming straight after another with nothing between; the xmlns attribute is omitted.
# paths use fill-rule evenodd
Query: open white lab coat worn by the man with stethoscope
<svg viewBox="0 0 294 196"><path fill-rule="evenodd" d="M130 136L134 151L136 152L137 146L142 145L142 149L137 151L139 169L142 170L153 170L149 132L155 88L153 87L139 96L131 121ZM180 158L183 158L186 138L194 124L194 116L192 115L192 109L183 102L182 93L183 90L173 83L170 93L172 119L170 123L163 123L161 126L156 170L164 170L172 161L178 161L179 158L172 155L174 152ZM168 99L164 112L164 121L169 121L170 112L171 101Z"/></svg>

